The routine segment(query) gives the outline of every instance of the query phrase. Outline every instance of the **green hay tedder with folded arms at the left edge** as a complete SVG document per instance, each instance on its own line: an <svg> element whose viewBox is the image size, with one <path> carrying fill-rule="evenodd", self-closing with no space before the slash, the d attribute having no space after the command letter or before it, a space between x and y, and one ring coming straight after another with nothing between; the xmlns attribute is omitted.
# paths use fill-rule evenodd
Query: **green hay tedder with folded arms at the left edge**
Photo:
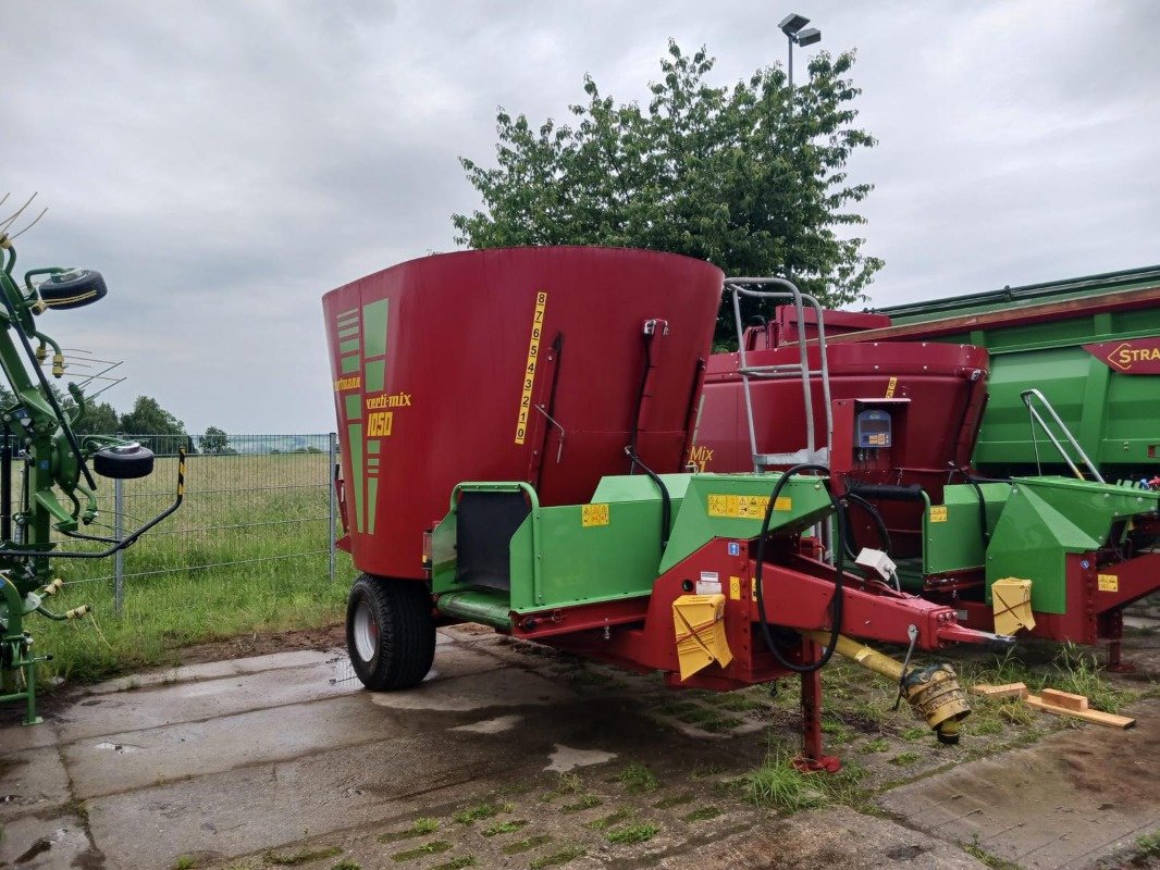
<svg viewBox="0 0 1160 870"><path fill-rule="evenodd" d="M34 614L75 619L88 612L87 606L64 614L45 606L63 586L52 563L111 556L176 510L182 499L184 456L179 461L176 500L161 514L118 538L82 531L99 516L93 471L108 478L144 477L153 470L153 454L135 442L73 433L72 423L85 413L85 394L68 384L72 405L61 407L42 367L51 356L51 374L59 379L67 368L65 355L41 331L37 318L99 302L106 284L97 271L59 267L31 269L20 283L13 274L13 239L20 233L9 234L20 213L0 223L0 368L14 397L0 409L0 702L23 702L23 722L35 725L41 722L36 669L51 655L34 651L26 619ZM15 500L14 465L20 472ZM61 549L61 539L88 542L90 549Z"/></svg>

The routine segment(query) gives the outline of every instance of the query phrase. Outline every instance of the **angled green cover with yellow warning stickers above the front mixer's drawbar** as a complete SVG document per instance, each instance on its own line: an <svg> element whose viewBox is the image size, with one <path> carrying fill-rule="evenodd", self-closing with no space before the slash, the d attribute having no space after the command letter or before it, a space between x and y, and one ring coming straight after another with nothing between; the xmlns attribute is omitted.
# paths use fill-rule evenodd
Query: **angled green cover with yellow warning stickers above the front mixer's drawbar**
<svg viewBox="0 0 1160 870"><path fill-rule="evenodd" d="M673 523L660 573L686 559L713 538L755 538L761 534L763 506L780 474L689 474L688 488ZM821 522L831 512L829 494L818 478L795 477L780 498L770 529L796 534ZM764 499L766 501L755 501ZM739 505L744 507L739 507ZM745 515L740 515L740 514ZM724 514L724 515L723 515Z"/></svg>

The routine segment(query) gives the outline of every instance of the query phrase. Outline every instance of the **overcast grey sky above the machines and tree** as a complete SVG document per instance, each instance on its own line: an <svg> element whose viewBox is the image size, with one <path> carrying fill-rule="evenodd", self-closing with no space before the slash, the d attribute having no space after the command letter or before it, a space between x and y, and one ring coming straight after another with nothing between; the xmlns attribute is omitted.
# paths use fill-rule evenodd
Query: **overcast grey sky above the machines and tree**
<svg viewBox="0 0 1160 870"><path fill-rule="evenodd" d="M478 205L457 158L490 162L498 107L563 118L585 73L643 100L669 37L732 84L784 63L789 12L857 49L871 304L1160 262L1152 0L26 0L0 188L49 213L19 270L104 273L104 302L43 328L124 360L118 409L326 432L319 297L455 248Z"/></svg>

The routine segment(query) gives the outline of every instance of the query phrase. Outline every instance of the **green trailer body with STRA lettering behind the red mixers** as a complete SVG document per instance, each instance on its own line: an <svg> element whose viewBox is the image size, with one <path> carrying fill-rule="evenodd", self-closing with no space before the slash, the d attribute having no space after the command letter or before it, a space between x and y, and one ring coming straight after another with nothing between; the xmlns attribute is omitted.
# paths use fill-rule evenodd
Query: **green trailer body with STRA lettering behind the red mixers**
<svg viewBox="0 0 1160 870"><path fill-rule="evenodd" d="M991 354L981 471L1066 473L1042 432L1032 441L1021 394L1034 387L1105 479L1160 473L1160 267L878 311L893 325L834 341L929 339Z"/></svg>

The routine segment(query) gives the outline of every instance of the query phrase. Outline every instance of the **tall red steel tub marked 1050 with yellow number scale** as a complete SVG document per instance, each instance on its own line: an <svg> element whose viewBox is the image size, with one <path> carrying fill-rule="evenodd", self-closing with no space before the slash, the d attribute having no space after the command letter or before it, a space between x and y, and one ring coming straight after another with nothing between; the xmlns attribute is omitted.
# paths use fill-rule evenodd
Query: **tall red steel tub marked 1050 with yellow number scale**
<svg viewBox="0 0 1160 870"><path fill-rule="evenodd" d="M412 260L326 293L355 565L423 577L422 530L457 483L527 480L561 505L626 473L651 319L667 334L659 325L651 340L638 450L677 471L723 277L673 254L501 248Z"/></svg>

